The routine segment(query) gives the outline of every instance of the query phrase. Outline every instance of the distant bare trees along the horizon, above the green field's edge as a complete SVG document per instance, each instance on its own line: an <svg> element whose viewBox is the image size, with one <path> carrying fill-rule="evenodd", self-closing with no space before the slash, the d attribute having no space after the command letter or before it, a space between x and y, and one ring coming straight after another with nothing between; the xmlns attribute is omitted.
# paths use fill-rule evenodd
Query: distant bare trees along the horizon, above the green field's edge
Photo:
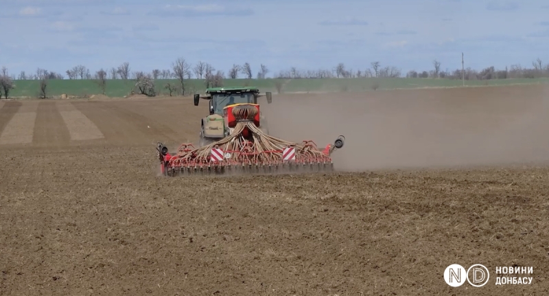
<svg viewBox="0 0 549 296"><path fill-rule="evenodd" d="M339 63L332 69L318 69L318 70L303 70L296 67L290 67L288 70L279 71L272 76L272 78L283 79L300 79L300 78L450 78L461 79L465 74L465 80L487 80L487 79L506 79L506 78L539 78L549 77L549 64L544 64L541 59L537 58L532 62L533 67L522 67L521 65L511 65L511 67L505 67L505 69L495 69L495 67L487 67L482 70L476 70L466 68L462 69L443 70L441 68L441 62L434 60L432 62L432 68L425 71L408 71L403 74L401 69L394 66L383 66L380 62L371 62L371 67L367 69L352 69L348 68L344 63ZM45 69L36 69L35 73L27 73L21 71L19 76L10 76L12 80L42 80L47 79L94 79L97 76L106 76L106 79L136 79L139 73L143 71L131 71L130 63L124 62L118 67L111 67L110 69L100 69L95 73L92 73L84 65L77 65L65 71L65 76L56 73L54 71L47 71ZM269 69L266 65L259 65L255 78L266 79ZM213 65L208 62L197 62L196 65L189 64L184 58L178 58L172 63L170 69L153 69L150 71L152 79L207 79L211 76L219 75L227 79L237 78L254 78L253 69L249 62L245 62L244 65L232 65L228 71L216 70Z"/></svg>

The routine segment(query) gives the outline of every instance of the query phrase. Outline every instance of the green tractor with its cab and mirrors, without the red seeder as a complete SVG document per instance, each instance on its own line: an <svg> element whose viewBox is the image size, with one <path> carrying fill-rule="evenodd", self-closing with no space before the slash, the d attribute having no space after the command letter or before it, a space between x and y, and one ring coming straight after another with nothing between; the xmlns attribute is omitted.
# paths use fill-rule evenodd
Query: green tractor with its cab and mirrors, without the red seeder
<svg viewBox="0 0 549 296"><path fill-rule="evenodd" d="M226 126L223 110L226 106L235 104L257 104L257 98L264 95L259 94L257 87L212 87L206 89L206 95L195 94L194 106L198 106L200 99L209 100L209 113L202 118L200 123L199 146L206 146L219 141L231 134L231 128ZM267 103L272 102L272 93L265 93ZM259 112L259 128L268 134L267 121L264 115Z"/></svg>

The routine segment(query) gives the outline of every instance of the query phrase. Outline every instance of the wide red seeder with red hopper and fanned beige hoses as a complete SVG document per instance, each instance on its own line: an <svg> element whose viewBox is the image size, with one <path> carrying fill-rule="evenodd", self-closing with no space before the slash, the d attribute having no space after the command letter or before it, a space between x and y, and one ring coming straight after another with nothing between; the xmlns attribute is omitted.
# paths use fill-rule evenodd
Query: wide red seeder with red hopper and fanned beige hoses
<svg viewBox="0 0 549 296"><path fill-rule="evenodd" d="M195 98L195 105L198 105ZM268 94L270 102L270 93ZM257 98L255 101L257 102ZM172 155L158 143L161 172L167 176L192 174L270 174L283 172L329 172L331 153L342 148L344 137L319 150L314 141L285 141L260 128L259 104L230 104L222 108L226 136L195 148L182 144Z"/></svg>

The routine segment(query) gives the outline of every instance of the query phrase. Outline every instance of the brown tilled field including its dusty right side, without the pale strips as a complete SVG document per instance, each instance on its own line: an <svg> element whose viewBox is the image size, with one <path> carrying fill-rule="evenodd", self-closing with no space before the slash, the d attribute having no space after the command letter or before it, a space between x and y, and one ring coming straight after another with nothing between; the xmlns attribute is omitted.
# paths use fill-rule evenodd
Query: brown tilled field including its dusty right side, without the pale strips
<svg viewBox="0 0 549 296"><path fill-rule="evenodd" d="M40 101L32 144L0 146L0 295L548 295L546 95L276 95L272 133L345 135L341 171L234 178L157 177L156 141L196 141L207 104ZM104 138L71 139L61 103ZM454 263L489 283L448 286ZM495 266L533 282L495 286Z"/></svg>

